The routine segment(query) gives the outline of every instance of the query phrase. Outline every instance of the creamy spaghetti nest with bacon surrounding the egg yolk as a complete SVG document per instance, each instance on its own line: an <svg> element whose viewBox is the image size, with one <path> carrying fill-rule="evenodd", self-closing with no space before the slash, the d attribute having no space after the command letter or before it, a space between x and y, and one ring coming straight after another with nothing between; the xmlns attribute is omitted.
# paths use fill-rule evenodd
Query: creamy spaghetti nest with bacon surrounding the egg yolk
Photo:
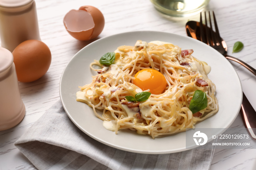
<svg viewBox="0 0 256 170"><path fill-rule="evenodd" d="M138 40L135 46L120 46L114 52L112 65L102 65L98 60L90 64L98 74L76 93L76 100L92 107L106 129L116 134L120 129L130 129L155 138L194 128L198 121L218 111L216 87L207 77L210 66L193 57L193 50ZM101 68L96 69L95 65ZM151 94L146 101L129 102L126 96L143 91L133 83L135 74L143 69L163 74L165 89L161 94ZM206 94L207 107L193 114L189 105L196 90Z"/></svg>

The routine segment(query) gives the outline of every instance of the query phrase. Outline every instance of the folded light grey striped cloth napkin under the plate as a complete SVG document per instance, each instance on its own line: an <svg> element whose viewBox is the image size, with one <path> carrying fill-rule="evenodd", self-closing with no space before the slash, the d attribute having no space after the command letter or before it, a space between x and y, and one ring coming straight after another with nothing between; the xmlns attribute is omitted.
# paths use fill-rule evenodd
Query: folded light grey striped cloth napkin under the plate
<svg viewBox="0 0 256 170"><path fill-rule="evenodd" d="M214 146L206 144L173 154L137 154L102 144L82 132L57 101L15 143L44 169L209 169Z"/></svg>

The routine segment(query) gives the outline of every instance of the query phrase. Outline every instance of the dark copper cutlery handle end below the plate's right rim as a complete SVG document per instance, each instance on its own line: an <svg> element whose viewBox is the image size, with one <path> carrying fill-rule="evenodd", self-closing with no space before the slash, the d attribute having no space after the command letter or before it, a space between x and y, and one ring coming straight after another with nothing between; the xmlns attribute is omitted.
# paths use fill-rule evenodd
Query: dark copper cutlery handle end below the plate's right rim
<svg viewBox="0 0 256 170"><path fill-rule="evenodd" d="M256 139L256 111L244 93L240 111L249 134Z"/></svg>

